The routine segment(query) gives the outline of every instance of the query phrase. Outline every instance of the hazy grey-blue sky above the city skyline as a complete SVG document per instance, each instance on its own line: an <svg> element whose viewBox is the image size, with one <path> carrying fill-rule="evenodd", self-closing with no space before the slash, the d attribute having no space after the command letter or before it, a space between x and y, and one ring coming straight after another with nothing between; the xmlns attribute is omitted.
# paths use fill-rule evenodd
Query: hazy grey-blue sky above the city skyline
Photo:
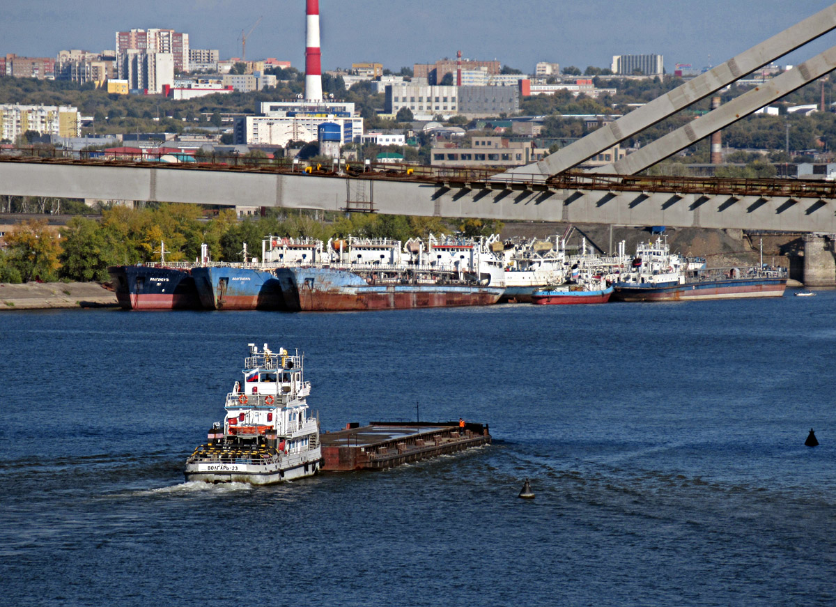
<svg viewBox="0 0 836 607"><path fill-rule="evenodd" d="M670 72L721 64L827 8L823 0L320 0L324 69L401 66L455 57L497 59L523 72L538 61L609 67L614 54L657 53ZM54 57L115 47L115 32L173 28L222 59L275 57L304 65L304 0L3 0L0 56ZM781 59L797 64L836 44L829 33Z"/></svg>

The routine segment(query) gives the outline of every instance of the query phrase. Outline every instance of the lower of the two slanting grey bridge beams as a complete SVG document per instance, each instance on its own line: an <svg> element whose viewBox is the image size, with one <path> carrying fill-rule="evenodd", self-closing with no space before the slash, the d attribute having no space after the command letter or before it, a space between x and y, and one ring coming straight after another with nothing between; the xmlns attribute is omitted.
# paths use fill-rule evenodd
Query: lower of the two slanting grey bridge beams
<svg viewBox="0 0 836 607"><path fill-rule="evenodd" d="M671 131L667 135L643 145L639 150L628 154L607 166L600 166L590 173L609 173L617 175L635 175L659 161L673 156L680 150L694 145L697 141L742 120L747 115L760 110L764 105L800 89L805 84L821 78L836 69L836 46L828 48L813 59L808 59L793 69L748 90L716 110L702 115L687 125Z"/></svg>

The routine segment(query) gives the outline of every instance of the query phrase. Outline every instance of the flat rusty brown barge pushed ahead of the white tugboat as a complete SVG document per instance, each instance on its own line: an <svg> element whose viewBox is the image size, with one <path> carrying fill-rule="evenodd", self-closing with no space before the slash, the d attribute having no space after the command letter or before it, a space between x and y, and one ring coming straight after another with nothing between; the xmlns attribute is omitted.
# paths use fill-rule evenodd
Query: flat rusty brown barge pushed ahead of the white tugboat
<svg viewBox="0 0 836 607"><path fill-rule="evenodd" d="M487 424L459 422L371 421L368 426L348 424L345 430L319 435L323 471L385 470L490 445Z"/></svg>

